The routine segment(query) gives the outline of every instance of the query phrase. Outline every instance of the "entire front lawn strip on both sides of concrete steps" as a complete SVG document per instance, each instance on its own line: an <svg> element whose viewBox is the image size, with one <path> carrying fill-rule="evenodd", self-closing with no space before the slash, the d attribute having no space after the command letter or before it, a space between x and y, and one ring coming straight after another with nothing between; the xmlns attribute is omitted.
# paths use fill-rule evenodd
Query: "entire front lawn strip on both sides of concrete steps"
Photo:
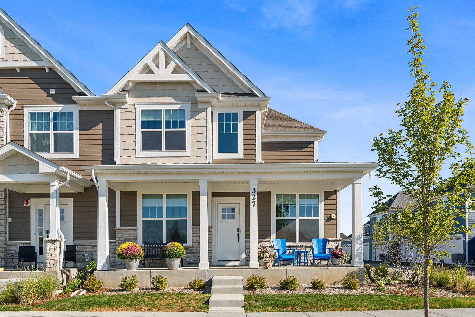
<svg viewBox="0 0 475 317"><path fill-rule="evenodd" d="M0 311L192 311L207 312L209 294L142 293L83 295ZM422 309L423 299L404 295L244 295L247 312ZM431 308L475 307L475 297L430 298Z"/></svg>

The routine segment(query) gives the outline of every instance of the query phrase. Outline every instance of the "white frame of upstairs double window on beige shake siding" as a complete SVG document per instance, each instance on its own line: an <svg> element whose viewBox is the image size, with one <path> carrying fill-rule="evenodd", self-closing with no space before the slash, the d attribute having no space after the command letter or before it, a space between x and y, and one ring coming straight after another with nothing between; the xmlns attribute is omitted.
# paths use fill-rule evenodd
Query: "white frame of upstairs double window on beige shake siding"
<svg viewBox="0 0 475 317"><path fill-rule="evenodd" d="M140 113L142 109L162 109L161 137L162 151L142 151L142 129ZM165 117L164 110L185 109L186 118L186 150L165 151ZM135 103L135 156L136 157L168 157L168 156L191 156L191 103L190 102L167 102L167 103Z"/></svg>

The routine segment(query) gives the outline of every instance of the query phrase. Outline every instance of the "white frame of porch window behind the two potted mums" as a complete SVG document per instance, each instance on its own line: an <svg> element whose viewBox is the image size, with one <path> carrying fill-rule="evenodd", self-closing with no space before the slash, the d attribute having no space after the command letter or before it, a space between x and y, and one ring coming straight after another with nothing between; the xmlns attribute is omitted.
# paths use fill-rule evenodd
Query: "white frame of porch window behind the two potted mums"
<svg viewBox="0 0 475 317"><path fill-rule="evenodd" d="M163 194L163 218L142 218L142 195L143 194ZM167 194L186 194L186 218L167 218L166 214L166 197ZM187 243L183 245L189 245L191 246L191 192L190 191L172 191L172 192L157 192L157 191L147 191L147 192L137 192L137 243L139 245L143 245L143 240L142 240L142 232L143 232L143 223L142 220L163 220L163 240L166 240L167 237L167 225L166 225L166 220L184 220L186 219L186 240Z"/></svg>

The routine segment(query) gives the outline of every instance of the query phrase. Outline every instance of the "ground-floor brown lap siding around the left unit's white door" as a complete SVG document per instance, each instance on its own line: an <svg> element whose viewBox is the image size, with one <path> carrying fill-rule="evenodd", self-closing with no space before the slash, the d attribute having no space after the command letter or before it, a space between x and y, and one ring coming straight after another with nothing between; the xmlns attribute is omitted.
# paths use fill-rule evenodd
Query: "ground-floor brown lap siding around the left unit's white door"
<svg viewBox="0 0 475 317"><path fill-rule="evenodd" d="M23 200L49 198L49 193L20 193L9 191L9 241L30 240L30 206ZM61 192L59 198L73 199L73 239L97 240L97 190ZM109 239L115 240L115 192L109 189Z"/></svg>

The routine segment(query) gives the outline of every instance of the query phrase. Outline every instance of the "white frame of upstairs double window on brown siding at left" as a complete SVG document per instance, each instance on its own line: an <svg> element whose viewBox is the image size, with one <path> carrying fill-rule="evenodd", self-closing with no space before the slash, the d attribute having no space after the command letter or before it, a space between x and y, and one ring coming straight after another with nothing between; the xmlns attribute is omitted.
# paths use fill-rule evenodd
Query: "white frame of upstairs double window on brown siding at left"
<svg viewBox="0 0 475 317"><path fill-rule="evenodd" d="M61 111L70 111L74 113L74 125L73 125L73 139L74 139L74 152L72 153L53 153L53 112ZM76 105L24 105L23 106L23 122L24 122L24 144L28 150L30 148L30 122L29 122L29 113L30 112L50 112L49 117L49 133L50 133L50 153L38 153L38 155L43 156L47 159L70 159L70 158L79 158L79 107Z"/></svg>

